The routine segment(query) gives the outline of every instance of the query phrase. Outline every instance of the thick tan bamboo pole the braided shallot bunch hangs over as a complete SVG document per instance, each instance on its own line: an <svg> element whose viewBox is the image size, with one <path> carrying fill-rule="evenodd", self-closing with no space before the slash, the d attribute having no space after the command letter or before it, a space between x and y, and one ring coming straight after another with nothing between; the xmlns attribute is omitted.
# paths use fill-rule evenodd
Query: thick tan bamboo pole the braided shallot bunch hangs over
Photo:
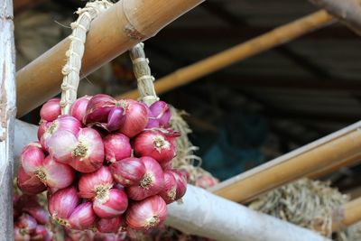
<svg viewBox="0 0 361 241"><path fill-rule="evenodd" d="M100 15L88 32L82 76L97 70L204 0L121 0ZM16 74L18 116L60 92L69 39L58 43Z"/></svg>

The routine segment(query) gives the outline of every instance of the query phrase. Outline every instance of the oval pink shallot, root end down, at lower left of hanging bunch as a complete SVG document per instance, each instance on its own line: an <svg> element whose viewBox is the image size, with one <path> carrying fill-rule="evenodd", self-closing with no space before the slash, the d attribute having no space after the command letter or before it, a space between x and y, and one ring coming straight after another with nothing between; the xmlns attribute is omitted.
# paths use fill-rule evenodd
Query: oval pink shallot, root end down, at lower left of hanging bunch
<svg viewBox="0 0 361 241"><path fill-rule="evenodd" d="M58 190L48 199L51 218L62 226L69 227L69 217L79 204L77 190L74 187Z"/></svg>

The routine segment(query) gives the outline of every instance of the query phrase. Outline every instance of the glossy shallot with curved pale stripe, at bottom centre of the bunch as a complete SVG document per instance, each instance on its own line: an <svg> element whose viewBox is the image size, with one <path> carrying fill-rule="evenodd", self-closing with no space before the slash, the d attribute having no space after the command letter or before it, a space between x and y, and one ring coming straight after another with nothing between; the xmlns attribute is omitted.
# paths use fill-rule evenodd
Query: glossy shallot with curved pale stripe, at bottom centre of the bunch
<svg viewBox="0 0 361 241"><path fill-rule="evenodd" d="M111 189L104 197L97 197L93 209L99 218L115 218L122 215L128 207L125 191Z"/></svg>

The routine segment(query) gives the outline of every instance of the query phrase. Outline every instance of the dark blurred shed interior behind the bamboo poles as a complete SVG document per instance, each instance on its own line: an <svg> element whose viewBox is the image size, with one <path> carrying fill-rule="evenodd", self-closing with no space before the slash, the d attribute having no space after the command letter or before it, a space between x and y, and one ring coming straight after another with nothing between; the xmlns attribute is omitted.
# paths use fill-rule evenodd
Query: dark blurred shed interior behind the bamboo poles
<svg viewBox="0 0 361 241"><path fill-rule="evenodd" d="M14 0L20 70L69 35L79 0ZM158 79L318 9L297 0L208 0L145 42ZM361 39L339 23L264 51L161 96L189 113L202 166L220 180L355 123L361 116ZM83 80L79 96L136 88L128 54ZM23 120L37 124L39 108ZM361 167L328 177L356 192Z"/></svg>

